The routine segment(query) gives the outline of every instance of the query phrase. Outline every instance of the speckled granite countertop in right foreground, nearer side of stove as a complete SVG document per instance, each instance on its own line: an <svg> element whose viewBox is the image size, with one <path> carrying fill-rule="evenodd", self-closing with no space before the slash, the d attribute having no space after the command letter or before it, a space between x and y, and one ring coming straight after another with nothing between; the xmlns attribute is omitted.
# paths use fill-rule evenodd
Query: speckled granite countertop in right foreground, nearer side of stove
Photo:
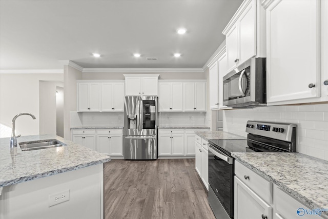
<svg viewBox="0 0 328 219"><path fill-rule="evenodd" d="M301 153L232 153L232 156L309 207L328 209L328 161Z"/></svg>

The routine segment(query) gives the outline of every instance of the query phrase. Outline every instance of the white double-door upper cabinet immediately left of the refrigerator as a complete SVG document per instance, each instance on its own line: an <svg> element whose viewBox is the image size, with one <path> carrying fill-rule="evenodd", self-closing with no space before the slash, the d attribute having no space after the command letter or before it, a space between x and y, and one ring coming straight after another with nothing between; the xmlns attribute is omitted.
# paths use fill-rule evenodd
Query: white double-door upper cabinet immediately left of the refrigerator
<svg viewBox="0 0 328 219"><path fill-rule="evenodd" d="M124 83L101 83L101 111L124 111Z"/></svg>

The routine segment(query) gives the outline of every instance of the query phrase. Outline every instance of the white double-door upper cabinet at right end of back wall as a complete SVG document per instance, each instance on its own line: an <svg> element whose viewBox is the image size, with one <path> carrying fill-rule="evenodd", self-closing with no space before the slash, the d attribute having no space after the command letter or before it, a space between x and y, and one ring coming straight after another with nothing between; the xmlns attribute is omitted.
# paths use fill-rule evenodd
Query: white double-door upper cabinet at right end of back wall
<svg viewBox="0 0 328 219"><path fill-rule="evenodd" d="M183 83L183 111L206 111L206 82Z"/></svg>

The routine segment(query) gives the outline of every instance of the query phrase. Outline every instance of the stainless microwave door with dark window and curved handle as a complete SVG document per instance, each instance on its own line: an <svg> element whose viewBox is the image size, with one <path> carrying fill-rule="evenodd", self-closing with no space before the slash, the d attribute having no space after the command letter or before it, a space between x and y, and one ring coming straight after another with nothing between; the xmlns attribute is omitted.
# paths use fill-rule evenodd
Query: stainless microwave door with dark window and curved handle
<svg viewBox="0 0 328 219"><path fill-rule="evenodd" d="M250 95L251 67L232 75L223 81L223 101Z"/></svg>

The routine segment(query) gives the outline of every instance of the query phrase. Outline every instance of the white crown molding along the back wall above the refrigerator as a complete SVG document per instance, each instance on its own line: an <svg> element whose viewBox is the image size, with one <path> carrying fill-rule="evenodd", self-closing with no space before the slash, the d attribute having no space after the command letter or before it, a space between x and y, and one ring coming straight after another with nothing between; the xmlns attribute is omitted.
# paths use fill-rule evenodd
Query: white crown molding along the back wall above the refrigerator
<svg viewBox="0 0 328 219"><path fill-rule="evenodd" d="M118 72L118 73L163 73L163 72L204 72L203 68L84 68L83 72L90 73L107 73L107 72Z"/></svg>

